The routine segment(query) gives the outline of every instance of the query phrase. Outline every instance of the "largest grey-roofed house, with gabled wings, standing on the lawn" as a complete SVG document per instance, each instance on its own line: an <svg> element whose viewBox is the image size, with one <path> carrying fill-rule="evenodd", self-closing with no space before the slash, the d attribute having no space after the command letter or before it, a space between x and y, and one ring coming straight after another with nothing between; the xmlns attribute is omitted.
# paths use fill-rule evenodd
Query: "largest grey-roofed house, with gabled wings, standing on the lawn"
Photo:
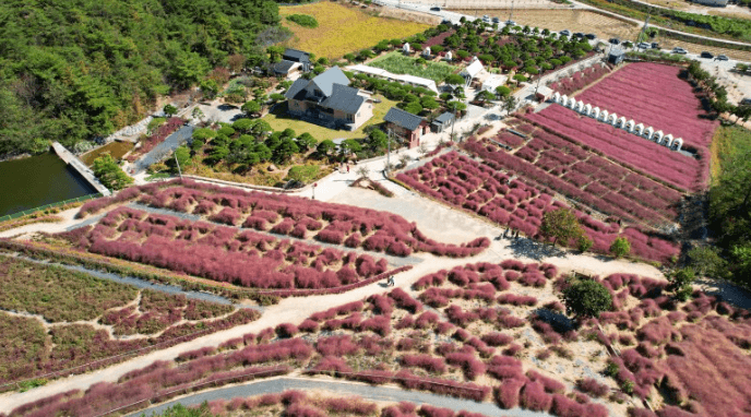
<svg viewBox="0 0 751 417"><path fill-rule="evenodd" d="M370 94L350 87L338 67L312 80L295 81L285 97L290 115L330 128L354 130L373 116Z"/></svg>

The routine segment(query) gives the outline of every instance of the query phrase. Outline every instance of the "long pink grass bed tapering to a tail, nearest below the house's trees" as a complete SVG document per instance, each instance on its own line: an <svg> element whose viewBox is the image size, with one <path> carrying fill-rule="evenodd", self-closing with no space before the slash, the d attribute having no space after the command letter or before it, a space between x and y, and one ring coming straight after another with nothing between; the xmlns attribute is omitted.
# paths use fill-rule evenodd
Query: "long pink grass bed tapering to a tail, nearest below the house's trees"
<svg viewBox="0 0 751 417"><path fill-rule="evenodd" d="M194 181L169 181L158 186L135 187L120 193L117 199L122 202L136 198L140 203L150 206L200 215L213 222L206 224L211 227L216 226L215 223L241 225L243 228L259 231L272 231L297 239L311 238L396 257L429 252L462 258L479 253L490 245L487 238L478 238L462 245L437 242L426 238L414 224L388 212L284 194L246 192ZM110 204L116 204L117 201L92 201L81 207L81 214L96 213Z"/></svg>

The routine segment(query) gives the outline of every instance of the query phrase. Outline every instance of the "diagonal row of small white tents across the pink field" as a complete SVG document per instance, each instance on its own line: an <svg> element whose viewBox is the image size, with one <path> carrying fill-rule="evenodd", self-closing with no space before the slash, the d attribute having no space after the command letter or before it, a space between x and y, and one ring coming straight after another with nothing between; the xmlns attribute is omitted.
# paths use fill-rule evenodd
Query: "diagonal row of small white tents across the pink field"
<svg viewBox="0 0 751 417"><path fill-rule="evenodd" d="M673 151L680 151L683 146L682 138L673 139L672 134L665 134L661 130L655 131L655 128L651 126L644 127L643 123L636 123L633 119L627 120L623 116L619 117L615 112L600 110L599 107L592 107L591 104L585 104L582 100L577 102L574 97L568 97L565 94L561 95L559 92L553 93L552 102L597 121L611 124L615 128L623 129L629 133L656 142L658 145L667 146Z"/></svg>

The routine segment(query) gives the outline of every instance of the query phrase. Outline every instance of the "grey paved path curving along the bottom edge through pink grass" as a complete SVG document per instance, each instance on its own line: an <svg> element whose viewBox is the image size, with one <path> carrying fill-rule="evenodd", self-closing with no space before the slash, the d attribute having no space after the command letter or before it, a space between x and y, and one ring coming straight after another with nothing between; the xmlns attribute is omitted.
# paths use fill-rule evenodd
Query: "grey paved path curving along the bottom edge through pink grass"
<svg viewBox="0 0 751 417"><path fill-rule="evenodd" d="M467 410L472 413L480 413L486 416L498 417L548 417L547 413L529 412L521 408L501 409L493 403L476 403L470 400L461 400L450 396L430 394L425 392L404 391L396 388L389 386L372 386L362 383L344 382L344 381L322 381L314 379L302 378L277 378L273 380L264 380L258 382L250 382L242 385L223 388L218 390L205 391L194 395L186 396L156 407L147 408L145 410L131 414L129 417L136 416L152 416L164 413L168 407L176 404L184 406L199 405L204 401L212 402L215 400L231 400L237 397L248 397L254 395L262 395L269 393L281 393L286 390L322 390L334 392L337 395L358 395L368 401L378 402L393 402L398 403L406 401L415 404L429 404L436 407L451 408L455 412Z"/></svg>

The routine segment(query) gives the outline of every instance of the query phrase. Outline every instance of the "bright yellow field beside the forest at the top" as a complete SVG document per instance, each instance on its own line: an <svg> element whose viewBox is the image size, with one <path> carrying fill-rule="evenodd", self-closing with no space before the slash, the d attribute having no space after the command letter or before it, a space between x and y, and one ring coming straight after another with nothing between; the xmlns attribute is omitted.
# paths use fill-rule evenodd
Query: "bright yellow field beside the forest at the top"
<svg viewBox="0 0 751 417"><path fill-rule="evenodd" d="M360 9L331 1L281 7L279 14L283 16L282 24L295 33L295 37L286 46L330 59L370 48L381 39L407 37L430 27L421 23L376 17ZM319 26L307 28L291 23L284 19L289 14L314 16Z"/></svg>

